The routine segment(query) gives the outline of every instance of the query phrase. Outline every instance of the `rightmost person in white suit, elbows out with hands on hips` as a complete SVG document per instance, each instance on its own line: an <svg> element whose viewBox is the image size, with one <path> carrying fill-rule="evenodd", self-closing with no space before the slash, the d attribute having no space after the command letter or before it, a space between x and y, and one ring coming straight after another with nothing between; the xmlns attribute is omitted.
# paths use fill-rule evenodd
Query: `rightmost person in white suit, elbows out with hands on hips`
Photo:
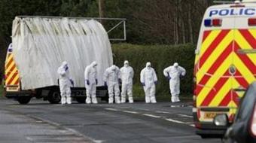
<svg viewBox="0 0 256 143"><path fill-rule="evenodd" d="M169 89L172 95L172 102L180 102L180 77L186 75L186 70L175 62L163 70L163 75L169 79Z"/></svg>

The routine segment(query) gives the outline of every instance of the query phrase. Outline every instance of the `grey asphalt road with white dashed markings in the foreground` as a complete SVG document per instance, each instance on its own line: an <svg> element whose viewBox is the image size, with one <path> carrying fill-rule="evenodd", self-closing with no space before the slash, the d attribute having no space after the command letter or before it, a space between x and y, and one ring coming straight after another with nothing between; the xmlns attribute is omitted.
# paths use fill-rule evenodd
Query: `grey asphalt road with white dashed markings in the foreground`
<svg viewBox="0 0 256 143"><path fill-rule="evenodd" d="M195 135L191 107L186 102L181 105L184 107L180 104L172 104L171 107L169 102L157 104L138 102L122 105L106 103L85 105L74 102L72 105L50 105L41 100L33 100L29 105L19 105L12 100L0 99L0 119L2 112L8 112L18 117L27 117L29 120L39 120L37 129L41 129L43 122L51 129L69 132L74 140L71 141L69 138L67 142L79 142L83 140L82 138L84 142L90 140L109 143L221 142L220 139L201 139L200 136ZM33 122L33 125L37 126L36 123ZM49 136L49 133L42 134L45 138ZM1 135L0 132L0 138ZM41 141L41 138L34 139L33 142Z"/></svg>

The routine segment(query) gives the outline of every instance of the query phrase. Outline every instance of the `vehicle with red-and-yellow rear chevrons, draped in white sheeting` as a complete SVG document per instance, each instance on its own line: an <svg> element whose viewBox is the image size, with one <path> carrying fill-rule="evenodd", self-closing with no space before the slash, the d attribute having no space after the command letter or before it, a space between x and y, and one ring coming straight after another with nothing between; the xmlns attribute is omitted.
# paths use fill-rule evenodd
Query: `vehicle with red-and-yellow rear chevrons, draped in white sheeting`
<svg viewBox="0 0 256 143"><path fill-rule="evenodd" d="M108 99L102 81L113 64L108 33L96 20L73 17L15 17L5 60L5 96L29 103L32 97L59 103L57 68L67 61L75 82L72 97L86 99L84 69L98 62L97 97Z"/></svg>

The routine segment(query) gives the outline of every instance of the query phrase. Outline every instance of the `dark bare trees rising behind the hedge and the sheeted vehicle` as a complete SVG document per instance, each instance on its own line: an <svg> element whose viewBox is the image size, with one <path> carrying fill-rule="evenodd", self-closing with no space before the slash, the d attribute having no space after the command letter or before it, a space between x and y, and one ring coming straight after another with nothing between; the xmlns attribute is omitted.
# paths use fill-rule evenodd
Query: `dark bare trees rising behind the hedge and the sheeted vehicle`
<svg viewBox="0 0 256 143"><path fill-rule="evenodd" d="M126 18L135 44L196 44L203 14L213 0L1 0L0 80L17 15ZM103 23L103 21L102 21ZM113 23L104 21L105 29ZM120 30L121 31L121 30ZM116 32L114 35L122 35ZM112 36L112 33L111 33Z"/></svg>

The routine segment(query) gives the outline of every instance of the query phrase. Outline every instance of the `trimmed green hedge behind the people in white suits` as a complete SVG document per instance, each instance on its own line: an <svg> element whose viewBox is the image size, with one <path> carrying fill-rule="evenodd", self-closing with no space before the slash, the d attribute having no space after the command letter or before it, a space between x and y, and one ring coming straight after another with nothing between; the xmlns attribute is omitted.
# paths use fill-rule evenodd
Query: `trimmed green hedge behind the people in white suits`
<svg viewBox="0 0 256 143"><path fill-rule="evenodd" d="M114 64L122 67L124 60L129 60L135 71L133 93L135 96L144 96L139 83L139 74L146 62L151 62L157 72L157 96L169 95L169 81L163 76L163 69L174 62L187 70L187 75L181 79L181 95L191 95L193 91L194 69L193 44L172 45L135 45L112 44Z"/></svg>

